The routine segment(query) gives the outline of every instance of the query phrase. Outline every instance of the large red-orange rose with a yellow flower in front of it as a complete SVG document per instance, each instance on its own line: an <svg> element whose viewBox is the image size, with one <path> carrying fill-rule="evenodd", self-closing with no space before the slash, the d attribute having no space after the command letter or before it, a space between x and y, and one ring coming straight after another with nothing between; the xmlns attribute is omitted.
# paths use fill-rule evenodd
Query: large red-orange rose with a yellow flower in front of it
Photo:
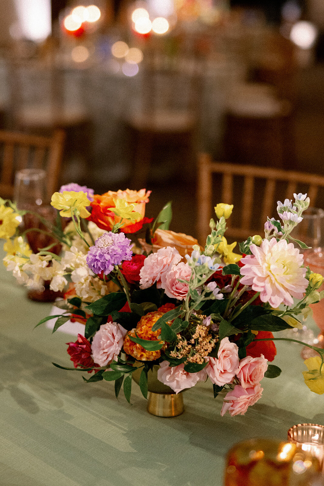
<svg viewBox="0 0 324 486"><path fill-rule="evenodd" d="M129 204L134 204L134 211L140 214L140 217L134 222L127 219L123 220L124 224L120 230L123 233L135 233L141 229L144 223L151 223L153 218L145 217L145 204L149 202L149 195L151 191L141 189L140 191L108 191L102 195L94 194L93 201L91 203L92 211L91 215L87 218L88 221L93 221L101 229L111 231L115 224L121 221L119 216L110 211L110 208L115 208L116 199L124 199Z"/></svg>

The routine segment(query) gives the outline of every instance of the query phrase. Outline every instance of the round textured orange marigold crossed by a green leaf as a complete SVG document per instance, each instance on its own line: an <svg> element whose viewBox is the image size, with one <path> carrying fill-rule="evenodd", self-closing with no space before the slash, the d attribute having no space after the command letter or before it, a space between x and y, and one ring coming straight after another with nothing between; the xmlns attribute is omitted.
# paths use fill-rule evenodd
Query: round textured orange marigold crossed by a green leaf
<svg viewBox="0 0 324 486"><path fill-rule="evenodd" d="M152 327L163 314L164 312L158 311L149 312L140 318L136 329L134 328L127 332L123 345L126 354L130 354L133 358L139 361L153 361L161 356L161 351L147 351L140 344L134 343L128 336L136 337L137 334L137 337L141 339L158 341L157 336L160 335L161 329L153 331Z"/></svg>

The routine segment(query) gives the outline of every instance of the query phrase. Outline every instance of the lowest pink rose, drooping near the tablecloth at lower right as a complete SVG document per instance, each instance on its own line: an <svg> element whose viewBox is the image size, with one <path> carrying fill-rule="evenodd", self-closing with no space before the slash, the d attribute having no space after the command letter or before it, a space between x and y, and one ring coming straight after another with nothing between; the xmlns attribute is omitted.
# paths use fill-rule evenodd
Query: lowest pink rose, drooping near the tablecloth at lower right
<svg viewBox="0 0 324 486"><path fill-rule="evenodd" d="M250 405L254 405L261 398L263 388L257 384L254 388L243 388L241 385L235 385L225 395L221 415L227 411L232 417L235 415L244 415Z"/></svg>

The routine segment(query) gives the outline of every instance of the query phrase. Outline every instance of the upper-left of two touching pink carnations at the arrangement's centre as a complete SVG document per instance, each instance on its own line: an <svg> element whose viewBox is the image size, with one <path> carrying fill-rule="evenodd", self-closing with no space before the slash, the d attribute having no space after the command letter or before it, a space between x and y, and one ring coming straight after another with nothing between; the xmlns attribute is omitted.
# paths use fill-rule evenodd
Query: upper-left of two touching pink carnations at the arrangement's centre
<svg viewBox="0 0 324 486"><path fill-rule="evenodd" d="M139 272L140 288L147 289L156 282L157 288L160 289L162 275L167 272L172 265L179 263L181 258L178 250L171 248L171 246L160 248L156 253L151 253L151 255L144 260L144 265Z"/></svg>

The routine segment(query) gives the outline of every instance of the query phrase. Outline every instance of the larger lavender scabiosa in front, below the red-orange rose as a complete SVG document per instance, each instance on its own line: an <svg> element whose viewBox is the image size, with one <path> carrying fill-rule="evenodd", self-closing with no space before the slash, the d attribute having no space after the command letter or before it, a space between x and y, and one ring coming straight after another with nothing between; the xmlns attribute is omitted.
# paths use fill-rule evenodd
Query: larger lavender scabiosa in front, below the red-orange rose
<svg viewBox="0 0 324 486"><path fill-rule="evenodd" d="M123 260L132 260L132 243L124 233L106 233L90 246L86 256L88 267L97 275L108 275Z"/></svg>

